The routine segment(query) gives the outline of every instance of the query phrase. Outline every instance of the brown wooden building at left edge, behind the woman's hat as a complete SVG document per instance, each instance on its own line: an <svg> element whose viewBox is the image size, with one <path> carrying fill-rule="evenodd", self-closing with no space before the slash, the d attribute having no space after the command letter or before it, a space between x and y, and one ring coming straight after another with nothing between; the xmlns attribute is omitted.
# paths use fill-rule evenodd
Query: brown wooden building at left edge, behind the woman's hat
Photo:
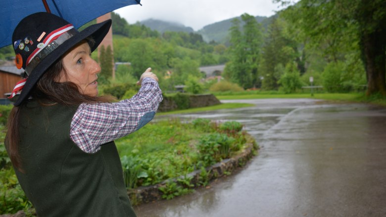
<svg viewBox="0 0 386 217"><path fill-rule="evenodd" d="M0 66L0 99L5 98L5 93L12 92L23 73L24 70L19 70L16 66Z"/></svg>

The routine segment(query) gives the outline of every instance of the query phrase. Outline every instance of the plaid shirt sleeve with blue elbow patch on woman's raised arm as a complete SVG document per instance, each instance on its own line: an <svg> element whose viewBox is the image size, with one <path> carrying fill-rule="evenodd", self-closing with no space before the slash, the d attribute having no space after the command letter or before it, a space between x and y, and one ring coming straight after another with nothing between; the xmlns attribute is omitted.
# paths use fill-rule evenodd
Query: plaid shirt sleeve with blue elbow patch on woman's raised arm
<svg viewBox="0 0 386 217"><path fill-rule="evenodd" d="M79 106L71 121L70 138L87 153L95 153L100 145L124 137L152 119L162 101L158 83L144 78L142 87L129 100Z"/></svg>

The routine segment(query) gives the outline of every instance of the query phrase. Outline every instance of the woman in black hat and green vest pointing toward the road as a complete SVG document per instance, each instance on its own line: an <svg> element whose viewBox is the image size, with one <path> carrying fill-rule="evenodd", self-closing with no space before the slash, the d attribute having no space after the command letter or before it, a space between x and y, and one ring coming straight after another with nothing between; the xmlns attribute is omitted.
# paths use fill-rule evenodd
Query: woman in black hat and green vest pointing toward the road
<svg viewBox="0 0 386 217"><path fill-rule="evenodd" d="M162 101L150 68L130 100L98 97L98 64L90 57L111 20L78 32L45 12L24 18L12 43L25 70L8 118L5 145L38 216L135 216L113 140L152 119ZM11 96L11 97L12 97Z"/></svg>

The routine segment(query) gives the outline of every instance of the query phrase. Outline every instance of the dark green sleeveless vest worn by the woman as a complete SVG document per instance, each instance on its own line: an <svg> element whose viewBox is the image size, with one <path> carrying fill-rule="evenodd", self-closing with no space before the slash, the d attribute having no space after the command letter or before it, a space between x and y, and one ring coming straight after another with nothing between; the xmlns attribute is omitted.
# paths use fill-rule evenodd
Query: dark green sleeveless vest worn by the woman
<svg viewBox="0 0 386 217"><path fill-rule="evenodd" d="M89 154L71 141L76 109L21 108L20 185L41 217L135 217L114 142Z"/></svg>

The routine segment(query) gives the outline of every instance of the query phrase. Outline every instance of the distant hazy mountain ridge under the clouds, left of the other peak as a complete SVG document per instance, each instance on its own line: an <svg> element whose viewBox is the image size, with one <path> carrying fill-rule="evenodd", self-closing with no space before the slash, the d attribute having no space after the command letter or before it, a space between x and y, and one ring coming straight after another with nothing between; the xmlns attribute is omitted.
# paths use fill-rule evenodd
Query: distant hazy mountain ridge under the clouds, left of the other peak
<svg viewBox="0 0 386 217"><path fill-rule="evenodd" d="M188 32L193 33L194 30L191 27L186 27L179 23L167 22L162 20L148 19L145 21L141 21L140 24L145 25L151 30L156 30L160 33L164 33L167 31L170 32Z"/></svg>

